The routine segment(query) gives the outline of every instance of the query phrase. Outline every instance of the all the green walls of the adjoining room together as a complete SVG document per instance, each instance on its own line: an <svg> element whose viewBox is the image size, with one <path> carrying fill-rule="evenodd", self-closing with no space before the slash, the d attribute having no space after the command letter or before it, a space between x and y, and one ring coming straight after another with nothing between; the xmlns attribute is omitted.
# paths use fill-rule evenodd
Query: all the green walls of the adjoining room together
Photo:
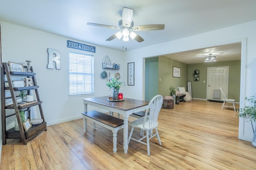
<svg viewBox="0 0 256 170"><path fill-rule="evenodd" d="M181 76L172 77L172 67L181 69ZM170 86L185 87L191 82L192 98L206 99L207 93L207 68L229 66L228 72L228 98L240 102L240 70L241 61L223 61L199 64L185 64L165 56L145 59L145 100L150 101L157 94L170 96ZM200 71L199 81L194 81L193 72ZM161 81L160 81L161 79ZM205 82L204 82L205 81Z"/></svg>

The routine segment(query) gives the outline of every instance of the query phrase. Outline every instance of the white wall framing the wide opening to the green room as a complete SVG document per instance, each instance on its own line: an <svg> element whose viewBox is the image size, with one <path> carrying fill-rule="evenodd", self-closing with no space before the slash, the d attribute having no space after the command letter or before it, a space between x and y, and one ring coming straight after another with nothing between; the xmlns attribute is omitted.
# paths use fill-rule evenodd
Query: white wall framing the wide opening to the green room
<svg viewBox="0 0 256 170"><path fill-rule="evenodd" d="M234 25L207 33L194 35L174 41L168 41L126 52L126 63L135 62L135 86L125 90L127 97L144 99L144 58L212 47L228 43L242 42L240 107L244 106L244 97L256 93L256 21ZM168 36L172 36L171 34ZM143 72L141 71L143 69ZM134 93L128 93L128 92ZM240 118L239 138L252 141L253 132L250 123Z"/></svg>

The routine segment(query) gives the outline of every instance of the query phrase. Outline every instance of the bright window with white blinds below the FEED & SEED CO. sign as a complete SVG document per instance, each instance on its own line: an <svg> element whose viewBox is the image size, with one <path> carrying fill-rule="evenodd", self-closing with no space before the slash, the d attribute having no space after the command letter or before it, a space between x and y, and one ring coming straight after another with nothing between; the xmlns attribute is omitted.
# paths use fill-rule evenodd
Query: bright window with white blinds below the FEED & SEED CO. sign
<svg viewBox="0 0 256 170"><path fill-rule="evenodd" d="M93 55L69 53L69 95L94 93Z"/></svg>

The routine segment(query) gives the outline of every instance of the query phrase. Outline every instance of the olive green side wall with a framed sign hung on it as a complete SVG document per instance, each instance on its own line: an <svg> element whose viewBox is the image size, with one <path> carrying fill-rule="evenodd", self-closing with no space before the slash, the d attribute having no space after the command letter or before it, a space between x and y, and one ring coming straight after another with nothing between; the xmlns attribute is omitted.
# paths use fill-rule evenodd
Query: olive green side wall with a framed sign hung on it
<svg viewBox="0 0 256 170"><path fill-rule="evenodd" d="M180 68L180 78L172 77L173 66ZM185 87L187 91L187 82L188 82L188 64L181 63L174 59L170 59L165 56L158 57L158 77L161 78L161 81L158 80L158 93L165 96L170 96L170 86L176 87Z"/></svg>

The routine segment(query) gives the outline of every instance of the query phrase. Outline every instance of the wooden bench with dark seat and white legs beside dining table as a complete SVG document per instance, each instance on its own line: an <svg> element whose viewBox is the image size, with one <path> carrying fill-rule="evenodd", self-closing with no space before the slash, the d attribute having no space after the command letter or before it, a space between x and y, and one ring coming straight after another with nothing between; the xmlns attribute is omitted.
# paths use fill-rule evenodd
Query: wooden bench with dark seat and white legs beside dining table
<svg viewBox="0 0 256 170"><path fill-rule="evenodd" d="M118 130L124 128L124 120L96 110L84 112L82 115L84 119L84 133L86 133L87 129L87 119L93 122L93 129L95 129L95 123L97 123L113 132L113 151L116 153L116 133Z"/></svg>

